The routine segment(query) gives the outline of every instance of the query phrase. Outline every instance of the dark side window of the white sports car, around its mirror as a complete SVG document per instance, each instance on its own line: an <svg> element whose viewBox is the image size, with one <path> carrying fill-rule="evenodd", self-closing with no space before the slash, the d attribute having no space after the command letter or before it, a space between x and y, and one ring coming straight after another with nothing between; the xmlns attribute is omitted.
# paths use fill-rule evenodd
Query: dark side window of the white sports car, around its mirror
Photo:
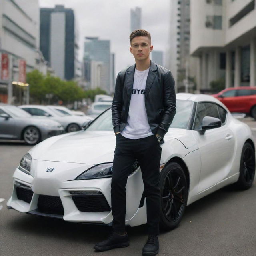
<svg viewBox="0 0 256 256"><path fill-rule="evenodd" d="M224 111L226 111L226 110L224 110ZM222 112L222 118L219 114L220 112ZM225 120L226 120L226 116L224 116L223 111L218 108L217 104L210 103L210 102L198 103L198 107L197 107L197 111L196 111L196 123L195 123L195 128L194 128L195 130L202 129L202 121L205 116L219 118L220 120L224 120L224 118L225 118ZM225 122L225 120L224 120L224 122Z"/></svg>

